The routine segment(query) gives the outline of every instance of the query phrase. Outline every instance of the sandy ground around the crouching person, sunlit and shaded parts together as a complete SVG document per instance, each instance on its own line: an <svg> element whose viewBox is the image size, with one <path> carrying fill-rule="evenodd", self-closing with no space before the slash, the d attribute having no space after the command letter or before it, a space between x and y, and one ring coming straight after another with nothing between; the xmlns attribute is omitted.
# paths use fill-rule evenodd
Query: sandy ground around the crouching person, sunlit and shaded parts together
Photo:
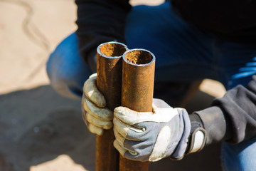
<svg viewBox="0 0 256 171"><path fill-rule="evenodd" d="M0 0L0 171L95 170L95 136L82 123L80 101L55 93L46 76L50 52L76 29L75 10L71 0ZM223 93L205 80L186 108L203 109ZM219 150L210 145L150 170L220 170Z"/></svg>

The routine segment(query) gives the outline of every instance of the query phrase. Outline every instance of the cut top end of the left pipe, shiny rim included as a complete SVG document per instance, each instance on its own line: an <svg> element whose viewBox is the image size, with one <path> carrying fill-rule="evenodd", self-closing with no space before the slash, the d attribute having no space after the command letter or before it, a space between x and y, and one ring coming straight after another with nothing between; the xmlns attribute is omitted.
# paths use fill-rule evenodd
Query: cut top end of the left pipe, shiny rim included
<svg viewBox="0 0 256 171"><path fill-rule="evenodd" d="M125 51L127 51L127 46L115 41L102 43L97 48L97 53L108 58L120 57Z"/></svg>

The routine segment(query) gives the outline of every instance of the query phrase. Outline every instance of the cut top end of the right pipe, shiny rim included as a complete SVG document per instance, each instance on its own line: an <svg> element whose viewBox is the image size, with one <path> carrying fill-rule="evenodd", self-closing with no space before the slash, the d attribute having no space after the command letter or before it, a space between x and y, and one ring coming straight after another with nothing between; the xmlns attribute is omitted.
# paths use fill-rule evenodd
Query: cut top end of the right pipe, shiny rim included
<svg viewBox="0 0 256 171"><path fill-rule="evenodd" d="M154 54L145 49L132 49L124 53L124 61L136 66L145 66L154 62Z"/></svg>

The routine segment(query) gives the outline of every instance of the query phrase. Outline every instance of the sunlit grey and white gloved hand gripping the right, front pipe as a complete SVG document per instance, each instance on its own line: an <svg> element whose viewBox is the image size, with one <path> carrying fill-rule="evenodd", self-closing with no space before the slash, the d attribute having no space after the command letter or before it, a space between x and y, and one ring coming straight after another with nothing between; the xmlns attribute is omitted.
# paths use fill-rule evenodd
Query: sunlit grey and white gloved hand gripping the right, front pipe
<svg viewBox="0 0 256 171"><path fill-rule="evenodd" d="M191 123L183 108L153 100L153 113L125 107L114 109L114 147L129 160L181 159L186 151Z"/></svg>

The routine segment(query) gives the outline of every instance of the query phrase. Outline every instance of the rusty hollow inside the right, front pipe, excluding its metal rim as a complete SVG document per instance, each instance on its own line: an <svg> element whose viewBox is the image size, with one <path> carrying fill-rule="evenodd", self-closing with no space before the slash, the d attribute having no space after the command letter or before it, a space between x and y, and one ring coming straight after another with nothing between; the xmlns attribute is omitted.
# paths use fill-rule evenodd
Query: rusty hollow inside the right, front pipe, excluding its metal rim
<svg viewBox="0 0 256 171"><path fill-rule="evenodd" d="M125 58L129 63L134 63L137 65L150 63L153 60L151 53L143 50L129 51Z"/></svg>

